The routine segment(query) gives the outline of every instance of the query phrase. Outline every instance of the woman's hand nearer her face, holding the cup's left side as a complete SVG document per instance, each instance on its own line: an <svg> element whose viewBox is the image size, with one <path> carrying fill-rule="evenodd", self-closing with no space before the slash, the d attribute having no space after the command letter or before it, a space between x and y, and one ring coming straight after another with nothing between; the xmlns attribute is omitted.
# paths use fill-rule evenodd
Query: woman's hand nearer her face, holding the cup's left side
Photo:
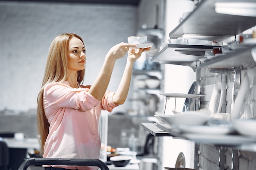
<svg viewBox="0 0 256 170"><path fill-rule="evenodd" d="M129 47L136 47L136 44L128 44L121 42L115 46L113 46L107 53L107 57L114 57L116 60L124 57L126 52L129 50Z"/></svg>

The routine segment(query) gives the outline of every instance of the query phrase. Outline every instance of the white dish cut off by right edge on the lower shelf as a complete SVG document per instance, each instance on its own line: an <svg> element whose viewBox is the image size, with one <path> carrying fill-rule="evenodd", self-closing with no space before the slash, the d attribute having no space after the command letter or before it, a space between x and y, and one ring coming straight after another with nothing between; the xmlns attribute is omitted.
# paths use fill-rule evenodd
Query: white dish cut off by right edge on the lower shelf
<svg viewBox="0 0 256 170"><path fill-rule="evenodd" d="M232 124L239 134L256 138L256 119L235 119Z"/></svg>

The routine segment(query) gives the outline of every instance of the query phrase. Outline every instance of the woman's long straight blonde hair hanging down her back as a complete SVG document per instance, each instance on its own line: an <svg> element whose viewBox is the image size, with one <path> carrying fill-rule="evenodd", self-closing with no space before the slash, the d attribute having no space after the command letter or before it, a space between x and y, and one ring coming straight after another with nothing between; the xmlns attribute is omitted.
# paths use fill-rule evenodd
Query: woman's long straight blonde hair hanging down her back
<svg viewBox="0 0 256 170"><path fill-rule="evenodd" d="M42 156L44 153L45 141L47 135L49 134L50 126L45 116L43 90L46 84L51 82L63 82L67 78L67 51L69 49L69 42L72 38L78 38L83 42L82 38L74 33L64 33L54 38L52 44L49 47L42 88L37 97L37 130L40 154ZM77 81L79 84L83 82L84 75L85 69L78 71Z"/></svg>

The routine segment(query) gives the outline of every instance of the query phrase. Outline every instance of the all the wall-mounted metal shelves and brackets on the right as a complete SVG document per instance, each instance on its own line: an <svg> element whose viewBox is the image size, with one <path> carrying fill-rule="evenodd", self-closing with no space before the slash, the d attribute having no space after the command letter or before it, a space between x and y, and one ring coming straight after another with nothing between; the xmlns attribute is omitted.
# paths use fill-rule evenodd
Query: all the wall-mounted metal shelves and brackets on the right
<svg viewBox="0 0 256 170"><path fill-rule="evenodd" d="M256 26L256 17L226 15L216 13L216 2L254 2L255 0L202 0L198 7L194 9L173 31L169 33L170 39L175 38L194 38L198 40L208 40L216 42L230 43L236 41L236 35ZM196 80L200 84L200 69L211 68L209 71L216 73L231 74L230 70L240 67L249 68L256 66L252 56L252 49L256 44L248 45L244 49L236 49L234 53L221 55L207 62L200 63L199 59L204 58L205 51L212 50L218 46L197 46L167 44L153 58L152 62L160 64L176 64L191 67L197 74ZM239 74L239 75L238 75ZM237 73L235 79L239 80L240 73ZM236 82L236 81L235 81ZM240 83L238 81L238 83ZM234 155L232 155L232 166L238 170L238 151L237 148L249 148L249 151L256 152L256 139L248 138L242 135L201 135L191 133L177 133L170 126L162 124L142 124L142 126L155 136L171 136L173 138L187 139L195 143L205 142L222 146L232 146ZM168 133L164 133L168 132ZM250 146L250 147L246 147ZM195 146L195 152L198 147ZM195 169L198 169L198 155L195 154ZM220 150L219 169L225 169L225 150Z"/></svg>

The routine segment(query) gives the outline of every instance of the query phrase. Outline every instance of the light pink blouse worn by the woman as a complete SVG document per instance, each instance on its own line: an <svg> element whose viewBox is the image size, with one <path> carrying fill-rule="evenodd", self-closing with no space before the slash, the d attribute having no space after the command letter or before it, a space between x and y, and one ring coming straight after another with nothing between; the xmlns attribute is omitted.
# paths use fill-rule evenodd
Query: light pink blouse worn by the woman
<svg viewBox="0 0 256 170"><path fill-rule="evenodd" d="M45 86L43 100L50 127L44 147L44 158L99 159L101 110L111 112L117 105L113 102L115 93L108 91L102 101L99 101L88 93L89 90L81 87L72 88L66 81ZM79 170L96 168L54 165L52 167Z"/></svg>

